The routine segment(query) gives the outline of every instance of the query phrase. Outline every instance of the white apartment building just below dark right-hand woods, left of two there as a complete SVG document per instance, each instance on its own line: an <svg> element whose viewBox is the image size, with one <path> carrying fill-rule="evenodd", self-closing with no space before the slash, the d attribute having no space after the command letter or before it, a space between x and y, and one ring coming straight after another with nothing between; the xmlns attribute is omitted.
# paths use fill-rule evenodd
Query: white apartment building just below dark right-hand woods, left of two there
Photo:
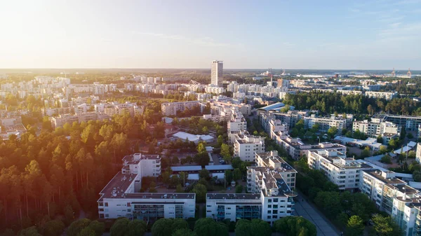
<svg viewBox="0 0 421 236"><path fill-rule="evenodd" d="M330 127L338 128L338 132L347 127L347 119L342 117L316 117L314 114L304 118L305 127L311 129L314 125L319 125L319 131L328 132Z"/></svg>

